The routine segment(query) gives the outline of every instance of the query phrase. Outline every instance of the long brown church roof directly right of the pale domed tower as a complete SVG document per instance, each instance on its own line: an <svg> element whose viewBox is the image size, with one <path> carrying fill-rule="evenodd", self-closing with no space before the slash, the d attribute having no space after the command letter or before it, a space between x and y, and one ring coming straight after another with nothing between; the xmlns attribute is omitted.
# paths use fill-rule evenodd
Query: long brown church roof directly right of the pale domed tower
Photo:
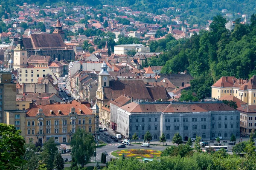
<svg viewBox="0 0 256 170"><path fill-rule="evenodd" d="M109 87L103 87L105 99L117 99L126 95L134 99L151 99L142 80L110 81Z"/></svg>

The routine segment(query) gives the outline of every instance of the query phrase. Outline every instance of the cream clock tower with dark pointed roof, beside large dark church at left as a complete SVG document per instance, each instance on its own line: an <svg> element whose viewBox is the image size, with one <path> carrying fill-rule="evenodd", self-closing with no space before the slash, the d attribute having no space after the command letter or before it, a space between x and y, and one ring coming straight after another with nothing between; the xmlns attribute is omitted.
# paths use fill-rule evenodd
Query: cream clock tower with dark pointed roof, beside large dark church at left
<svg viewBox="0 0 256 170"><path fill-rule="evenodd" d="M24 48L22 37L19 38L18 44L13 51L13 68L17 69L20 66L27 65L28 55Z"/></svg>

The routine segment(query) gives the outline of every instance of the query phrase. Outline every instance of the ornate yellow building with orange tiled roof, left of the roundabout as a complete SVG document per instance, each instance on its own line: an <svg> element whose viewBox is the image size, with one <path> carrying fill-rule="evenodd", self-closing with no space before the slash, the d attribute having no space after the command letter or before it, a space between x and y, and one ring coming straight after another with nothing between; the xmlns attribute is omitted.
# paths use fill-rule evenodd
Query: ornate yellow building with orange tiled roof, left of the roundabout
<svg viewBox="0 0 256 170"><path fill-rule="evenodd" d="M6 112L7 124L22 131L27 143L45 143L50 137L55 143L67 143L78 128L85 129L97 139L99 108L82 102L55 105L35 105L26 111Z"/></svg>

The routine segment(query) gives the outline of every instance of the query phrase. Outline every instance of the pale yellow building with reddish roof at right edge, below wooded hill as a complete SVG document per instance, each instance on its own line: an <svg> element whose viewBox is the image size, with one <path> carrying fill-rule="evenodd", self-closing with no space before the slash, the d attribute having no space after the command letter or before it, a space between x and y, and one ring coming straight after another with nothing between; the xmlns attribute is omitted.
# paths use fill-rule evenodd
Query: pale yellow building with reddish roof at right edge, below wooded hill
<svg viewBox="0 0 256 170"><path fill-rule="evenodd" d="M248 105L256 105L256 76L249 80L221 77L211 88L212 98L220 99L223 96L233 95Z"/></svg>

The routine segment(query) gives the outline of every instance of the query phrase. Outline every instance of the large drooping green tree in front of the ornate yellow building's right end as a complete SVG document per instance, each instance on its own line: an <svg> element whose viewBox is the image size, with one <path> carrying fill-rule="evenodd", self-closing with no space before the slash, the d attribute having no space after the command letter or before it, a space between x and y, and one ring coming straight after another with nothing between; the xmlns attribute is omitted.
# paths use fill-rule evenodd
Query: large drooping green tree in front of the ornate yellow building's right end
<svg viewBox="0 0 256 170"><path fill-rule="evenodd" d="M84 165L90 162L96 150L93 136L80 128L74 133L70 145L72 149L71 155L76 159L78 164L81 164L81 167L84 167Z"/></svg>

